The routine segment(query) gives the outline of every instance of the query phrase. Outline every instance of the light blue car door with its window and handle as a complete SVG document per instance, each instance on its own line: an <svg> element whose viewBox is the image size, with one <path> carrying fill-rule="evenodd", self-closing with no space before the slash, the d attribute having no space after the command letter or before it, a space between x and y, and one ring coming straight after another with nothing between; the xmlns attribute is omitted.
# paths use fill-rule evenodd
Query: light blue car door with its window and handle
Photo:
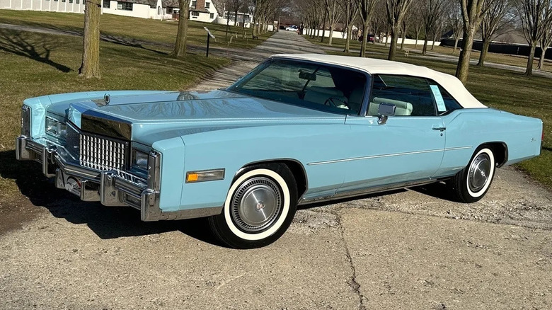
<svg viewBox="0 0 552 310"><path fill-rule="evenodd" d="M367 116L347 116L351 128L350 156L343 193L382 185L428 180L443 158L446 128L444 108L432 81L415 76L372 76ZM394 115L379 122L380 104Z"/></svg>

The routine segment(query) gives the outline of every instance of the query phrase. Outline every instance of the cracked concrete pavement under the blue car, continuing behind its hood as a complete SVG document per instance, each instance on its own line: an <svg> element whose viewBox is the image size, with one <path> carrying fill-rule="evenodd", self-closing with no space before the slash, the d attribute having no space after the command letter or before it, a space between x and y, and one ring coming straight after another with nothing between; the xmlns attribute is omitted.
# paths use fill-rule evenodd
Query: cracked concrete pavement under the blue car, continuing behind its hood
<svg viewBox="0 0 552 310"><path fill-rule="evenodd" d="M282 31L260 54L291 52L288 40L316 49L301 39ZM304 206L281 239L248 251L220 246L205 219L140 222L43 186L57 198L31 196L39 216L0 235L0 309L552 307L552 194L514 168L470 205L437 183Z"/></svg>

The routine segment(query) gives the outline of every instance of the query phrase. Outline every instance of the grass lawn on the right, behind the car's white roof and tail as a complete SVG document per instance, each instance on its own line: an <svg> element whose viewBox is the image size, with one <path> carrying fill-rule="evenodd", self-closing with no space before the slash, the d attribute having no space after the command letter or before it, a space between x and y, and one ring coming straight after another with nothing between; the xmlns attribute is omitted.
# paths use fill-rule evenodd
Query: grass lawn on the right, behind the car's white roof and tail
<svg viewBox="0 0 552 310"><path fill-rule="evenodd" d="M311 42L315 41L314 39L308 39ZM343 47L345 46L344 42L345 40L342 39L334 39L335 44L333 45ZM320 45L321 43L316 42L316 44ZM448 50L447 47L440 47L440 49ZM452 50L450 51L452 52ZM367 52L369 52L367 54L368 57L387 59L389 49L383 45L369 44ZM328 51L328 53L349 56L357 55L356 53L345 54L344 52L337 51ZM495 54L495 57L510 56ZM517 59L519 57L510 58ZM454 74L456 72L456 64L452 62L439 61L437 58L435 60L420 58L416 57L416 54L410 54L409 57L405 57L404 53L398 52L396 61L429 67L447 74ZM519 115L538 117L543 120L544 146L541 156L529 161L522 161L517 166L527 171L530 176L539 180L539 182L548 188L552 188L552 96L550 96L552 79L540 76L527 77L512 71L472 65L466 88L479 101L492 108L498 108Z"/></svg>

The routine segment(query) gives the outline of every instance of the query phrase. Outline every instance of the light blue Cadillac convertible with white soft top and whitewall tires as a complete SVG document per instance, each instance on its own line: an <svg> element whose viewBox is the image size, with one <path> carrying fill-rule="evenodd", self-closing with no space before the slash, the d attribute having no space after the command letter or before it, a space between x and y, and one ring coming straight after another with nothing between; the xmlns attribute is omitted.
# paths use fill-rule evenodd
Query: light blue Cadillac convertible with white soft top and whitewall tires
<svg viewBox="0 0 552 310"><path fill-rule="evenodd" d="M17 158L57 188L143 221L209 217L235 248L272 243L307 202L437 181L475 202L542 139L541 120L486 107L454 76L318 54L276 55L217 91L64 93L22 109Z"/></svg>

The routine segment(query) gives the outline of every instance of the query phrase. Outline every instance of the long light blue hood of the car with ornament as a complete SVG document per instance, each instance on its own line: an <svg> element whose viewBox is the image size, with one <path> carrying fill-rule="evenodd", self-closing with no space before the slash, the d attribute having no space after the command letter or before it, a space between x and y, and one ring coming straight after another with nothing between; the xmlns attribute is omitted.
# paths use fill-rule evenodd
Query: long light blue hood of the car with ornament
<svg viewBox="0 0 552 310"><path fill-rule="evenodd" d="M345 120L345 115L222 90L141 93L87 99L69 105L54 103L47 108L47 112L66 117L85 131L99 134L115 131L118 132L118 138L144 144L171 136L225 128L335 123Z"/></svg>

